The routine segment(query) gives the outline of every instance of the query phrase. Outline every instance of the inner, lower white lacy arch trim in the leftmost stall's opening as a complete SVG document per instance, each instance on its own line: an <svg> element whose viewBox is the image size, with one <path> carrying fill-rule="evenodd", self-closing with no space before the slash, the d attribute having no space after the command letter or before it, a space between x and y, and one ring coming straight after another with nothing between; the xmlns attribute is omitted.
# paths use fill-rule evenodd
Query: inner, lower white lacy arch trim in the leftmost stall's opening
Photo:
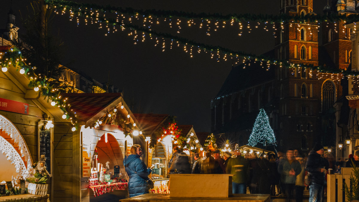
<svg viewBox="0 0 359 202"><path fill-rule="evenodd" d="M24 161L22 160L19 153L15 150L15 148L6 141L5 138L0 136L0 150L5 153L8 160L11 161L11 164L15 165L16 173L21 175L23 179L26 179L27 174L29 173L25 167Z"/></svg>

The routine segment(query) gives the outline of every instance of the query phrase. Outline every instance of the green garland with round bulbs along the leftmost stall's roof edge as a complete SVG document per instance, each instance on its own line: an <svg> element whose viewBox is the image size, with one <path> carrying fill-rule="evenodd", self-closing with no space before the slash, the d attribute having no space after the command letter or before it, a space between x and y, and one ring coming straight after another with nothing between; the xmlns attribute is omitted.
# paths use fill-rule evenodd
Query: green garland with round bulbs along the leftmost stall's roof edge
<svg viewBox="0 0 359 202"><path fill-rule="evenodd" d="M1 53L0 65L1 68L11 68L14 66L18 71L25 71L24 74L30 80L28 86L31 88L39 88L41 95L47 97L48 100L55 102L54 107L59 107L64 114L66 119L70 120L76 129L79 128L77 123L77 115L70 109L71 105L66 102L66 98L61 97L61 93L65 93L69 87L67 82L57 81L52 78L47 78L45 75L36 74L36 67L27 65L25 58L22 57L22 53L18 48L11 48L5 53Z"/></svg>

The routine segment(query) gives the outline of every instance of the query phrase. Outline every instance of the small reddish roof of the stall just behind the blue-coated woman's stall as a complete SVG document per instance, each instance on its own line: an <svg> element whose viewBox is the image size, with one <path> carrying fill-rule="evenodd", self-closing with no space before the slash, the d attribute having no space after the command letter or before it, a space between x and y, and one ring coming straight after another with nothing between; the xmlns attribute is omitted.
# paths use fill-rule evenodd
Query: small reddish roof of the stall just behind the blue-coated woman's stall
<svg viewBox="0 0 359 202"><path fill-rule="evenodd" d="M142 132L149 136L160 124L162 124L168 117L168 114L133 114L142 128Z"/></svg>

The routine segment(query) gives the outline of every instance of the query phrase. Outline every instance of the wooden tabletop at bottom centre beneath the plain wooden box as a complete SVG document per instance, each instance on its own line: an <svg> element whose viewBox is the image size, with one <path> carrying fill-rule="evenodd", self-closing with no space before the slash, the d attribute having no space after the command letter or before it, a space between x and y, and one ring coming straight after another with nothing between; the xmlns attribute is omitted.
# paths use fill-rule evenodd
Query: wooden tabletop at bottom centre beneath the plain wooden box
<svg viewBox="0 0 359 202"><path fill-rule="evenodd" d="M170 197L169 194L143 194L131 198L120 200L120 202L270 202L269 194L233 194L230 197L203 197L187 198L186 193L183 197Z"/></svg>

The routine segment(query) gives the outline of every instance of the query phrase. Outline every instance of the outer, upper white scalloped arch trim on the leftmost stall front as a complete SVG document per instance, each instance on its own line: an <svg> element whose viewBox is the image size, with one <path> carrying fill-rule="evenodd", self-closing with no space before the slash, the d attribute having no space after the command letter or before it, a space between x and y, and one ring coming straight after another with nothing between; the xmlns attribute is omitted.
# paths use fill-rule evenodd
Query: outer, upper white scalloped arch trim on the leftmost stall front
<svg viewBox="0 0 359 202"><path fill-rule="evenodd" d="M25 161L27 161L27 169L31 169L32 159L30 153L27 149L24 139L22 138L19 130L15 127L15 125L5 116L0 115L0 130L3 130L5 133L9 134L11 139L14 140L16 144L19 145L20 154L14 149L14 151L20 156L24 157ZM5 140L5 139L4 139ZM6 141L6 140L5 140ZM7 142L7 141L6 141ZM10 144L11 145L11 144ZM12 145L11 145L12 147ZM3 150L4 151L4 150ZM8 150L10 152L10 150ZM20 158L21 159L21 158ZM21 159L22 161L22 159ZM20 165L20 164L19 164ZM18 166L19 166L18 165ZM16 167L17 165L15 165ZM25 166L25 165L24 165ZM26 169L25 169L26 170ZM24 178L25 179L25 178Z"/></svg>

